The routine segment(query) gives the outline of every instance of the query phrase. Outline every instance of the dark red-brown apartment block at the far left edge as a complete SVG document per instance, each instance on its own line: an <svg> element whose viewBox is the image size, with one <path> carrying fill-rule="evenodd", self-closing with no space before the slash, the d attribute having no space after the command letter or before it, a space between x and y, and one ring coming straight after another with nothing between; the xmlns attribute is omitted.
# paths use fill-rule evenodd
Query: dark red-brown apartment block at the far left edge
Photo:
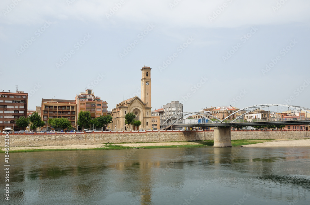
<svg viewBox="0 0 310 205"><path fill-rule="evenodd" d="M18 131L16 120L21 116L27 117L28 93L0 92L0 129L11 128Z"/></svg>

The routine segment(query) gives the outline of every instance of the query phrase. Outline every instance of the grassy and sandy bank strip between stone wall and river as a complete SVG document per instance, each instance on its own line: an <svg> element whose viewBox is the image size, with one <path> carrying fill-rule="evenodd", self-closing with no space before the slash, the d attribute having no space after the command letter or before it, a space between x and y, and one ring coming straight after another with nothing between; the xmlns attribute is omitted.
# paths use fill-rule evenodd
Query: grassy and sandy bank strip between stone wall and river
<svg viewBox="0 0 310 205"><path fill-rule="evenodd" d="M256 143L263 143L263 142L271 142L272 139L267 140L232 140L232 146L242 146L242 145L249 145L249 144L256 144ZM14 150L14 147L10 148L10 152L37 152L37 151L64 151L64 150L123 150L123 149L151 149L151 148L188 148L188 147L212 147L214 144L213 140L206 140L206 141L195 141L191 142L192 144L185 144L186 142L162 142L161 144L167 144L167 145L156 145L158 143L145 143L145 142L139 142L139 143L119 143L119 144L101 144L98 145L99 147L94 148L57 148L57 146L53 147L52 149L49 148L42 148L41 147L34 147L34 149L31 149L31 147L23 149L20 147L18 150ZM126 144L139 144L139 146L126 146ZM145 144L145 146L143 146ZM152 144L152 146L147 146L149 144ZM153 145L154 144L154 145ZM174 144L174 145L169 145ZM2 147L3 149L3 147ZM0 153L3 153L4 151L1 150Z"/></svg>

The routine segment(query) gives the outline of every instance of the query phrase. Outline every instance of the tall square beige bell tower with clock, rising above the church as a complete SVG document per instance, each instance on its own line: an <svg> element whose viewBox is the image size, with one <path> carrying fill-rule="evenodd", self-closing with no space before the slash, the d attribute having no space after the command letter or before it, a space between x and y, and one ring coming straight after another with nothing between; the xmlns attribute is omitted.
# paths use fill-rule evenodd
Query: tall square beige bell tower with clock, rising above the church
<svg viewBox="0 0 310 205"><path fill-rule="evenodd" d="M147 107L151 107L151 69L146 66L141 69L141 100L147 104Z"/></svg>

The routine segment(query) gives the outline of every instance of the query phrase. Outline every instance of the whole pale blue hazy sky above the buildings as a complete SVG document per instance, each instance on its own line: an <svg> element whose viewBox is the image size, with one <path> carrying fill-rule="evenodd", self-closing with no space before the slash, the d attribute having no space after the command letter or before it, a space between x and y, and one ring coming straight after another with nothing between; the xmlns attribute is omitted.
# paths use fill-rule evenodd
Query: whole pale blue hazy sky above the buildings
<svg viewBox="0 0 310 205"><path fill-rule="evenodd" d="M75 99L93 89L109 110L141 97L152 110L310 107L308 0L2 0L0 89Z"/></svg>

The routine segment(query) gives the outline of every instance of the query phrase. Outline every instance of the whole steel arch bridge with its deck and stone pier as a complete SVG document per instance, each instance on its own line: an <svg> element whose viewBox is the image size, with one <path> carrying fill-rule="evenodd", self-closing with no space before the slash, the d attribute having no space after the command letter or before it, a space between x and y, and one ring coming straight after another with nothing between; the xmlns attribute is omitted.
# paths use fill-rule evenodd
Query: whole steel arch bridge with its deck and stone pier
<svg viewBox="0 0 310 205"><path fill-rule="evenodd" d="M287 109L293 109L300 111L300 114L305 113L304 117L299 117L300 119L293 118L294 120L283 119L283 118L271 118L270 109L274 112L279 113L284 111L284 107ZM269 117L266 119L244 119L246 114L257 113L260 114L260 111L267 110ZM184 119L188 115L197 115L200 117L200 122L189 122L189 123L180 123L179 121ZM195 128L195 127L214 127L214 146L215 147L229 147L231 146L231 137L230 129L231 127L247 127L247 126L268 126L268 125L308 125L310 124L310 109L301 106L295 105L283 105L283 104L259 104L249 107L242 108L238 111L232 112L230 115L226 116L223 120L211 115L210 112L181 112L177 113L170 118L166 119L161 125L161 130L165 129L174 129L174 128Z"/></svg>

